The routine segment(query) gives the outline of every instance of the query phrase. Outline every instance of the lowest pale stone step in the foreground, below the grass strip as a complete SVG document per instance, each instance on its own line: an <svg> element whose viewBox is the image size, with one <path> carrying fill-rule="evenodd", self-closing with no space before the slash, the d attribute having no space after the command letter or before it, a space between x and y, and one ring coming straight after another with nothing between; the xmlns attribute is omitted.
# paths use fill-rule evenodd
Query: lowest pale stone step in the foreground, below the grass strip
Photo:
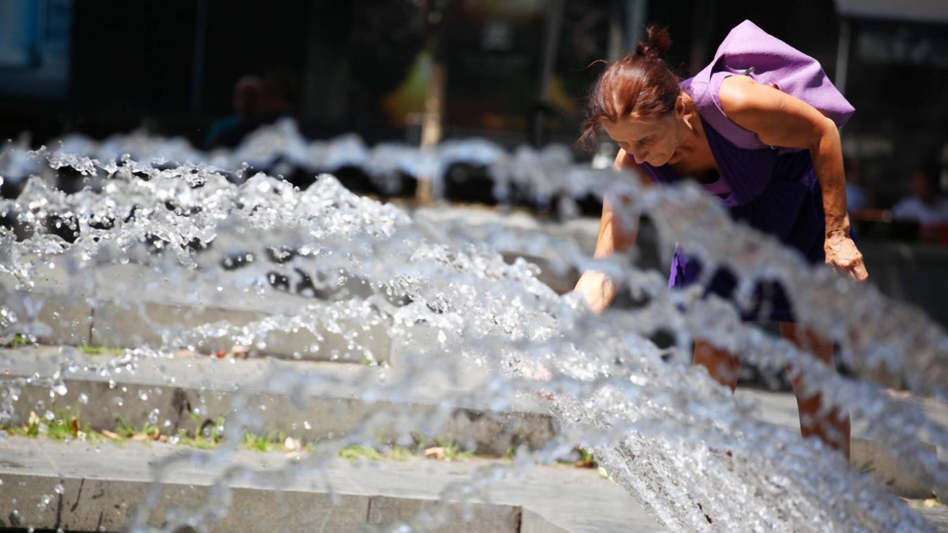
<svg viewBox="0 0 948 533"><path fill-rule="evenodd" d="M64 444L10 437L0 442L0 508L4 509L0 526L124 530L153 481L151 465L175 450L161 443ZM195 453L210 457L210 452ZM302 479L273 487L266 473L294 460L283 453L238 451L226 465L191 462L174 469L165 478L160 497L149 505L148 522L160 526L173 507L192 508L206 502L214 474L239 466L262 475L231 485L228 514L212 531L356 531L366 525L407 521L448 485L498 464L338 459L324 470L325 476L307 471ZM490 503L472 505L467 520L459 512L460 505L450 505L453 512L448 523L432 531L662 531L621 487L593 469L536 467L517 479L494 483L489 493Z"/></svg>

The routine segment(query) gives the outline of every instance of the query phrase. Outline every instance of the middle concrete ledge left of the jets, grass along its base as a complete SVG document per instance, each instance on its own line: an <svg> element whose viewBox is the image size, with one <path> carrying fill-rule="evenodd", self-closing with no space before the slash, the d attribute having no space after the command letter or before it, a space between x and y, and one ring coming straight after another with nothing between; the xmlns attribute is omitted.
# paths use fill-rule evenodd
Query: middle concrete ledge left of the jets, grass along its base
<svg viewBox="0 0 948 533"><path fill-rule="evenodd" d="M14 356L9 358L12 364L7 378L50 377L57 371L57 358L62 358L49 348L0 350L0 355ZM85 356L79 362L107 359ZM432 420L446 414L437 401L429 399L440 396L437 383L420 384L422 390L413 395L382 396L371 401L363 399L363 391L351 386L327 384L318 393L304 393L305 401L300 402L291 391L282 390L282 384L261 382L270 364L266 359L235 359L231 363L216 358L173 358L143 361L135 374L123 372L101 377L91 371L78 371L67 375L72 377L64 380L65 394L55 398L50 398L46 385L25 385L19 399L13 402L13 412L20 420L26 420L30 411L79 413L96 430L115 430L120 418L134 428L151 422L165 434L174 434L181 428L193 432L192 415L197 416L201 427L227 416L234 409L234 391L239 388L246 405L259 414L259 432L285 432L307 442L346 435L370 414L383 410L402 414L376 427L381 440L393 442L407 429L404 420L398 418ZM297 365L299 372L325 377L327 381L337 378L343 383L371 382L379 372L376 367L326 362L280 364ZM447 424L440 432L425 436L501 456L521 443L536 450L555 435L556 424L547 414L494 413L486 406L464 405L447 412Z"/></svg>

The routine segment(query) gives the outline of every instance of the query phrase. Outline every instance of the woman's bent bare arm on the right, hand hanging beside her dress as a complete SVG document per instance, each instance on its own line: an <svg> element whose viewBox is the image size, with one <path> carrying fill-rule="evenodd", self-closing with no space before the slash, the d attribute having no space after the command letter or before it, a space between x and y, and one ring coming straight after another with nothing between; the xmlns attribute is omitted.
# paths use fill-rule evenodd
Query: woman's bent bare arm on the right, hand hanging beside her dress
<svg viewBox="0 0 948 533"><path fill-rule="evenodd" d="M730 76L720 84L724 114L771 146L810 150L823 190L826 213L826 262L852 278L866 281L863 254L849 238L843 148L836 124L809 103L747 76Z"/></svg>

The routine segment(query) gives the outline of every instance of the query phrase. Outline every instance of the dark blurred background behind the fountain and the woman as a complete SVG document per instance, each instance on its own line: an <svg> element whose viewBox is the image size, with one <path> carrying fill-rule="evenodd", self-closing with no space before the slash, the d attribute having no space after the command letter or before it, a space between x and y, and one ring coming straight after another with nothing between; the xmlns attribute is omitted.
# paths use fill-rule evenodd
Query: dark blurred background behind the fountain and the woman
<svg viewBox="0 0 948 533"><path fill-rule="evenodd" d="M647 24L670 29L667 61L688 77L744 19L816 58L856 107L842 135L870 275L948 323L943 0L0 0L0 140L138 130L210 150L291 117L306 138L370 146L572 147L599 60ZM600 164L615 150L604 142ZM447 199L495 203L479 169L462 170Z"/></svg>

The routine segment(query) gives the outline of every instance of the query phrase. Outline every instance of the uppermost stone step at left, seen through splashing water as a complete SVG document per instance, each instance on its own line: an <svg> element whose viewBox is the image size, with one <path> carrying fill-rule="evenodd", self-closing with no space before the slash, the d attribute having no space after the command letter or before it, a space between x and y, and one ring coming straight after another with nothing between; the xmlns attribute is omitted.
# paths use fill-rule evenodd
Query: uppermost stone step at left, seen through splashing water
<svg viewBox="0 0 948 533"><path fill-rule="evenodd" d="M37 337L51 345L137 348L147 344L157 348L162 344L162 331L180 332L221 321L241 327L274 315L305 314L307 305L326 303L280 290L268 291L265 297L218 292L200 280L193 284L172 281L142 265L100 266L81 276L69 272L67 259L49 263L54 267L42 268L28 291L17 290L12 276L0 274L0 294L6 292L11 302L38 307L36 317L48 329ZM359 282L352 284L350 292L361 290L355 286ZM188 285L189 291L181 291L181 285ZM133 286L136 294L130 297L127 290ZM273 331L248 348L279 358L356 363L367 358L389 360L392 340L385 324L344 318L337 322L338 329L319 326L315 333L305 328ZM199 340L195 347L213 353L232 346L231 340L220 337Z"/></svg>

